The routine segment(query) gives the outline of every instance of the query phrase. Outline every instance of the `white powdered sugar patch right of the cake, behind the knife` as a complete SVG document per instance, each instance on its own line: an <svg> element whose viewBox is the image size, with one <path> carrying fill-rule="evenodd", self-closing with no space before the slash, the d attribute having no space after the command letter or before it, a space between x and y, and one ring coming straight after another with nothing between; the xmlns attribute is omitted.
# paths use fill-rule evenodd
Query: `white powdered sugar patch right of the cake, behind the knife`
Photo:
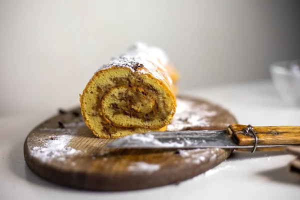
<svg viewBox="0 0 300 200"><path fill-rule="evenodd" d="M167 130L182 130L189 127L207 127L211 124L210 118L217 114L214 110L209 110L205 103L197 104L194 101L176 100L177 107L172 122L167 126Z"/></svg>

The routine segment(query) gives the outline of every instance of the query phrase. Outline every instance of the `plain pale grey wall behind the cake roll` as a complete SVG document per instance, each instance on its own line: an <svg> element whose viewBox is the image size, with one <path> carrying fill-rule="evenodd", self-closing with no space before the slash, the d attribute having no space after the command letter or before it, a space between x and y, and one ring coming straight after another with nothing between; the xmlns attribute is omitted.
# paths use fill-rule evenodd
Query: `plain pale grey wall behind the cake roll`
<svg viewBox="0 0 300 200"><path fill-rule="evenodd" d="M300 1L0 0L0 115L78 104L135 40L169 54L181 90L267 78L300 57Z"/></svg>

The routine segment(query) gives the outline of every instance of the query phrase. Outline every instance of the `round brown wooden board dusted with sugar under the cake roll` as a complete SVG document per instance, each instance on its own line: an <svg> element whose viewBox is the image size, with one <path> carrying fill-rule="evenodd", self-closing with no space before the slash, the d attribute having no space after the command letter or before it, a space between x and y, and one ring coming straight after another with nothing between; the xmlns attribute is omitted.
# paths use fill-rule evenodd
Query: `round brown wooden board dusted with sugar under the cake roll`
<svg viewBox="0 0 300 200"><path fill-rule="evenodd" d="M168 130L225 129L235 118L202 99L177 98ZM225 160L232 149L106 148L112 139L97 138L82 120L80 108L36 126L24 143L24 157L37 175L76 188L131 190L178 183Z"/></svg>

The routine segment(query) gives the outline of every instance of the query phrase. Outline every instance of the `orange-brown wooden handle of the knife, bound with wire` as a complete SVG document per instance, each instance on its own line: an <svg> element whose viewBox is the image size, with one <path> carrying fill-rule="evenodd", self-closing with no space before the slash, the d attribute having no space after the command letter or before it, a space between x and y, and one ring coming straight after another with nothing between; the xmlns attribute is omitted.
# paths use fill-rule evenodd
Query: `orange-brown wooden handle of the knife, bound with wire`
<svg viewBox="0 0 300 200"><path fill-rule="evenodd" d="M228 133L240 146L254 145L255 137L251 131L246 132L247 125L231 124ZM252 126L257 136L257 145L299 144L300 126ZM246 148L245 148L246 149ZM247 148L251 151L251 148ZM261 147L261 150L282 150L282 147ZM244 150L244 149L236 149ZM259 150L257 148L256 150Z"/></svg>

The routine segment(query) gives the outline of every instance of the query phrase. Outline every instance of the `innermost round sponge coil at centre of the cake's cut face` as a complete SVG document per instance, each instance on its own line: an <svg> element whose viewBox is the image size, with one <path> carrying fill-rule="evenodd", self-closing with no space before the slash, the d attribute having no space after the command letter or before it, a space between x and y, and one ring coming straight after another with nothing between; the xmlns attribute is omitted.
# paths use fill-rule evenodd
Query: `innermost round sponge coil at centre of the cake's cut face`
<svg viewBox="0 0 300 200"><path fill-rule="evenodd" d="M142 87L122 85L103 96L101 111L114 126L143 127L158 110L155 99Z"/></svg>

